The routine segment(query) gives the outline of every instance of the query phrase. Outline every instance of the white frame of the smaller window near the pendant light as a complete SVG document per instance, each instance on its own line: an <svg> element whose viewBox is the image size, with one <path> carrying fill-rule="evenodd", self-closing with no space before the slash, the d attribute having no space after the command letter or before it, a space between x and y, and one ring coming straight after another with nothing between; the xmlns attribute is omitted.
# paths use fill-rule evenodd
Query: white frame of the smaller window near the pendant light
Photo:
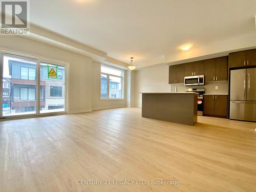
<svg viewBox="0 0 256 192"><path fill-rule="evenodd" d="M113 75L113 74L110 74L110 73L104 73L104 72L101 72L101 66L105 67L105 68L110 68L110 69L114 69L114 70L118 70L118 71L121 71L122 72L122 75L119 76L119 75ZM107 84L107 98L101 98L101 87L102 87L102 83L101 83L101 75L106 75L106 84ZM113 77L119 77L121 78L121 92L122 92L122 97L121 98L111 98L110 97L110 76L113 76ZM100 96L100 100L124 100L124 70L122 69L118 69L118 68L114 68L114 67L111 67L111 66L107 66L107 65L103 65L101 64L100 65L100 90L99 90L99 96Z"/></svg>

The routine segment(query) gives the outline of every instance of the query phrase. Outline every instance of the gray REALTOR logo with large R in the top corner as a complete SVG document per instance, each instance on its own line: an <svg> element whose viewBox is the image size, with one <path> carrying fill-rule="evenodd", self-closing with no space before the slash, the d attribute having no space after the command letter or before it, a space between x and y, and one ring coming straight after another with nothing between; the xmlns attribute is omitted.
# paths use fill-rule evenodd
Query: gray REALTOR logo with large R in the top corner
<svg viewBox="0 0 256 192"><path fill-rule="evenodd" d="M29 34L29 0L0 0L1 35Z"/></svg>

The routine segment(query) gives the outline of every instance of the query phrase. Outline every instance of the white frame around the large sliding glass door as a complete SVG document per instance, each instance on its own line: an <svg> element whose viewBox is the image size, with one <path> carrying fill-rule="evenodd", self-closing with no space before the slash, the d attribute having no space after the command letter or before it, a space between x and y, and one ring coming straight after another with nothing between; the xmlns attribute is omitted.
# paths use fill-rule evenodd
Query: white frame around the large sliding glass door
<svg viewBox="0 0 256 192"><path fill-rule="evenodd" d="M0 108L0 120L2 119L19 119L19 118L30 118L30 117L40 117L40 116L52 116L52 115L59 115L59 114L67 114L69 111L69 104L68 104L68 99L69 99L69 62L65 61L58 61L55 59L51 58L45 58L42 56L38 55L32 55L28 53L22 53L22 52L17 52L13 50L8 50L8 49L3 49L0 48L0 81L3 83L4 78L3 78L3 73L4 73L4 56L10 56L14 58L20 58L20 59L26 59L26 60L33 60L36 61L36 69L35 69L35 81L36 81L36 106L35 106L35 113L33 114L22 114L22 115L12 115L12 116L4 116L3 115L3 108ZM62 95L65 94L65 110L62 112L49 112L49 113L40 113L40 63L41 62L46 62L52 65L58 65L58 66L63 66L65 67L65 89L64 92L62 91ZM25 66L22 66L25 67ZM25 67L27 68L27 67ZM29 75L29 74L28 74ZM20 77L20 76L19 76ZM64 77L62 76L62 79ZM28 80L28 79L24 79ZM0 86L0 92L2 93L0 96L0 106L3 106L3 86Z"/></svg>

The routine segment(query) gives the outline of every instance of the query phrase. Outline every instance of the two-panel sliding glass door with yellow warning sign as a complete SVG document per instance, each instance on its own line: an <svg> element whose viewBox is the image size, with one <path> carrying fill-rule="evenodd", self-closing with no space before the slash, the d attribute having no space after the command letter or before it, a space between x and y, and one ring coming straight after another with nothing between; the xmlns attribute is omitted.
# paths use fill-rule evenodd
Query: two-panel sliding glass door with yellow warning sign
<svg viewBox="0 0 256 192"><path fill-rule="evenodd" d="M0 116L66 112L65 65L1 53Z"/></svg>

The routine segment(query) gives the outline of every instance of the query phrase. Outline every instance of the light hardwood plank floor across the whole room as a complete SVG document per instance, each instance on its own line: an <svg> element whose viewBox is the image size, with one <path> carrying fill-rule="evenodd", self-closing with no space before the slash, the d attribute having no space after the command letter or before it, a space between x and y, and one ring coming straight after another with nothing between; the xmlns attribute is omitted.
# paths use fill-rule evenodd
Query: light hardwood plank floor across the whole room
<svg viewBox="0 0 256 192"><path fill-rule="evenodd" d="M2 121L0 191L255 191L256 123L198 121L146 119L140 108Z"/></svg>

